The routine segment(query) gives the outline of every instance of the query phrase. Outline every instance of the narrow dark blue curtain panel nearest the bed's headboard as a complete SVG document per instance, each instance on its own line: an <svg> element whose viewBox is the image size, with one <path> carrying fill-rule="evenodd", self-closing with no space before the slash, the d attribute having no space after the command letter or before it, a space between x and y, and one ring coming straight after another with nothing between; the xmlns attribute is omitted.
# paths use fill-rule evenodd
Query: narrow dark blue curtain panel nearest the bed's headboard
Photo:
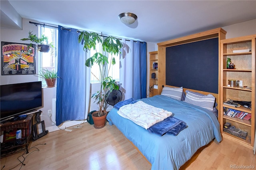
<svg viewBox="0 0 256 170"><path fill-rule="evenodd" d="M146 42L133 42L133 90L134 99L147 96L147 55Z"/></svg>

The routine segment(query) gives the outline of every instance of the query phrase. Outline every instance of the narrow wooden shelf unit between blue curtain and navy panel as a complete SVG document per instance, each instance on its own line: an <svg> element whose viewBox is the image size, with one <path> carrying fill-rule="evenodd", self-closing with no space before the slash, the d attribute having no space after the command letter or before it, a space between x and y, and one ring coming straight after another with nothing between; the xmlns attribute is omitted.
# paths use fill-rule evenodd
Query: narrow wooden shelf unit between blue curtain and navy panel
<svg viewBox="0 0 256 170"><path fill-rule="evenodd" d="M149 97L158 95L158 89L154 88L154 85L158 85L158 69L153 68L153 63L158 63L157 51L149 52ZM152 78L152 73L156 74L156 77Z"/></svg>

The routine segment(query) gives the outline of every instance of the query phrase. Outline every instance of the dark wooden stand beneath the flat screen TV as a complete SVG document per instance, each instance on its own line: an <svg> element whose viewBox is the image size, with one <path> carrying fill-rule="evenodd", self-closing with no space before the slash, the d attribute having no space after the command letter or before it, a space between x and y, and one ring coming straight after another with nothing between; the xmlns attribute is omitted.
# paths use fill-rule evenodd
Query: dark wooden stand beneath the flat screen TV
<svg viewBox="0 0 256 170"><path fill-rule="evenodd" d="M1 143L1 157L10 153L16 153L16 150L21 146L26 147L26 153L28 154L28 145L32 139L32 117L33 114L27 115L24 120L6 121L0 124L1 131L22 129L25 131L24 138L4 141ZM21 150L20 150L21 151ZM18 151L17 151L18 152Z"/></svg>

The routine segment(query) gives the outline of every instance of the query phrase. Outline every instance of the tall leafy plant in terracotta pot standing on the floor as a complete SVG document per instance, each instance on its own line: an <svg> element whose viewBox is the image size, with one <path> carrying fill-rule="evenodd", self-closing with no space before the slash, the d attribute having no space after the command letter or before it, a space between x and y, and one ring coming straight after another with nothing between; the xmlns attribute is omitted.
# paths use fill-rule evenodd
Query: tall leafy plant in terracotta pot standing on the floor
<svg viewBox="0 0 256 170"><path fill-rule="evenodd" d="M118 90L119 86L116 84L116 81L109 76L109 67L116 63L112 55L120 53L122 48L122 43L118 38L113 36L108 36L103 38L95 32L80 32L78 36L78 42L84 46L84 51L94 49L96 53L92 57L86 60L86 67L92 67L92 65L97 64L100 71L100 90L92 95L92 98L95 99L95 102L98 104L98 111L92 113L92 119L94 121L95 128L103 128L106 125L106 115L107 107L106 97L108 91ZM96 44L100 43L102 45L102 53L98 52L96 49ZM108 62L111 61L111 64L108 67ZM100 123L98 123L100 119Z"/></svg>

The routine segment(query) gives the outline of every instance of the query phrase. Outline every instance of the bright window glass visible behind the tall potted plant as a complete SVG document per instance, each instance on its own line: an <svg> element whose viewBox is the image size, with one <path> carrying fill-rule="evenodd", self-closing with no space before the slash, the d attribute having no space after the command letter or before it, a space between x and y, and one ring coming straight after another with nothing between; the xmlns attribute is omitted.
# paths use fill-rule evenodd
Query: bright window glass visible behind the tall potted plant
<svg viewBox="0 0 256 170"><path fill-rule="evenodd" d="M102 49L101 49L101 44L98 43L96 46L96 50L91 49L90 50L90 57L92 57L92 55L94 55L94 53L100 52L102 53ZM106 53L102 53L103 55L108 56ZM114 57L116 60L116 64L111 65L111 58ZM110 70L109 70L109 76L111 76L114 80L119 81L120 80L120 73L119 73L119 61L120 61L120 56L119 54L116 55L109 55L108 56L108 65L110 66ZM98 65L96 63L94 63L94 65L91 67L91 83L99 83L100 82L100 71L98 68Z"/></svg>

